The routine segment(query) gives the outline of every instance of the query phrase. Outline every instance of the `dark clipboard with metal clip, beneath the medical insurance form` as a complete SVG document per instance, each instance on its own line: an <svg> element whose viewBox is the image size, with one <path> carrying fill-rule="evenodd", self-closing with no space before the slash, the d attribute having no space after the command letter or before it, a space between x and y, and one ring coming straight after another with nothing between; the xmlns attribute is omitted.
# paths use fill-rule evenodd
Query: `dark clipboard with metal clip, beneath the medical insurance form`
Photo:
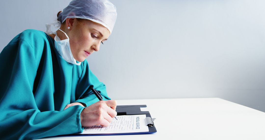
<svg viewBox="0 0 265 140"><path fill-rule="evenodd" d="M55 137L65 137L65 136L96 136L96 135L133 135L133 134L151 134L155 133L156 127L154 125L153 120L155 118L152 118L149 111L141 111L141 107L147 107L146 105L128 105L128 106L117 106L116 112L117 116L120 115L146 115L145 122L148 126L149 131L148 132L132 132L132 133L104 133L104 134L68 134L68 135L58 135Z"/></svg>

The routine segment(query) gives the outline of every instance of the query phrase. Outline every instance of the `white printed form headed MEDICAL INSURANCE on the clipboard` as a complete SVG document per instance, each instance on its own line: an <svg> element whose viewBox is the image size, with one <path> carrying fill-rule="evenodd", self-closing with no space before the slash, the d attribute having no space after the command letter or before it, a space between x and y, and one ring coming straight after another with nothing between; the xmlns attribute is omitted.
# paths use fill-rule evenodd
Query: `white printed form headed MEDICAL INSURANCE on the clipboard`
<svg viewBox="0 0 265 140"><path fill-rule="evenodd" d="M146 115L122 115L113 118L111 124L104 126L85 127L83 133L80 134L110 134L110 133L133 133L133 132L149 132L148 126L145 124Z"/></svg>

